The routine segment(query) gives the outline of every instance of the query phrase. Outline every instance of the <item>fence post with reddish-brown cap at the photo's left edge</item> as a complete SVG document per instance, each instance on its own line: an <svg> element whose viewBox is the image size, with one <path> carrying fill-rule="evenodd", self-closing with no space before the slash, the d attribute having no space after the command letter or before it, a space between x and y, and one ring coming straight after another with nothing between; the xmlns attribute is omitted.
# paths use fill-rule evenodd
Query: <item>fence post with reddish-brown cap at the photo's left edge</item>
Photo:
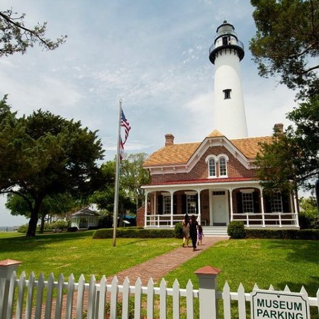
<svg viewBox="0 0 319 319"><path fill-rule="evenodd" d="M0 262L0 318L6 318L11 275L20 264L21 262L12 259Z"/></svg>

